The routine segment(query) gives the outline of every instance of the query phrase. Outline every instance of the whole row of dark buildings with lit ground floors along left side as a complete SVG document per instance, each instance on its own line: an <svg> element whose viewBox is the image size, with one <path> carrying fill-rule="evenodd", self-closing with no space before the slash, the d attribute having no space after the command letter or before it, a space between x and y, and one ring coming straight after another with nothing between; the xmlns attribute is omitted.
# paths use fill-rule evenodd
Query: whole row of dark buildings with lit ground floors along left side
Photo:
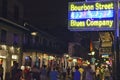
<svg viewBox="0 0 120 80"><path fill-rule="evenodd" d="M29 66L49 65L56 55L66 52L65 43L34 27L24 25L24 7L20 0L0 0L0 64L4 79L10 79L13 61ZM31 35L37 32L36 36ZM40 61L41 60L41 61ZM39 62L39 63L38 63Z"/></svg>

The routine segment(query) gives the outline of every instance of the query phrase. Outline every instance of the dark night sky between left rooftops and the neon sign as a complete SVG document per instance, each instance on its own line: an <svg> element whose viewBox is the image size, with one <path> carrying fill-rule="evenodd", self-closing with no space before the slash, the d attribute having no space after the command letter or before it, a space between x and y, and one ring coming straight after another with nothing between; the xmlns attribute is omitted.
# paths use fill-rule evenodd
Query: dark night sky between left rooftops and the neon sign
<svg viewBox="0 0 120 80"><path fill-rule="evenodd" d="M70 41L68 30L68 2L72 0L24 0L25 20L55 37ZM80 0L79 0L80 1Z"/></svg>

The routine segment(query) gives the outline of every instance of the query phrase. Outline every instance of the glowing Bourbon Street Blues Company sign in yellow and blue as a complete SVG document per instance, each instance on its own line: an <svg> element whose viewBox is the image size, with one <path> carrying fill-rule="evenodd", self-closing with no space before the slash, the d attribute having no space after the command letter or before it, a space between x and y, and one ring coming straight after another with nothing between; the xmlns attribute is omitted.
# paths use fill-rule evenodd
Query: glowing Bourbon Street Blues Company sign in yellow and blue
<svg viewBox="0 0 120 80"><path fill-rule="evenodd" d="M70 2L68 28L75 31L114 30L114 2Z"/></svg>

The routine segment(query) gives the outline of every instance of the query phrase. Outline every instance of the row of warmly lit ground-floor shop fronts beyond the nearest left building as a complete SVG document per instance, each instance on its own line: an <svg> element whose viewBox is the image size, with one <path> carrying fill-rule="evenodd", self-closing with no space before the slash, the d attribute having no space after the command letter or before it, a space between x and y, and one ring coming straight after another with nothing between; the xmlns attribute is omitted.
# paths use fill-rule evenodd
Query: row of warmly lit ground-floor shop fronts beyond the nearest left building
<svg viewBox="0 0 120 80"><path fill-rule="evenodd" d="M41 68L43 65L54 66L57 64L56 58L49 53L42 52L23 52L22 66L33 67L33 65ZM29 65L28 65L29 64Z"/></svg>

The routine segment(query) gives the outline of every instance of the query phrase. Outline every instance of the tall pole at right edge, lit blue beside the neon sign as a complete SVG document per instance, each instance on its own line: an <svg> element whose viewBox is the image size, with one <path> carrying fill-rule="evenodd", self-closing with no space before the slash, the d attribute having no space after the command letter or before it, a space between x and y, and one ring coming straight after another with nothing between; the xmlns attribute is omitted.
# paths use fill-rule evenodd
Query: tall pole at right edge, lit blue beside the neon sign
<svg viewBox="0 0 120 80"><path fill-rule="evenodd" d="M119 78L119 0L114 1L115 5L115 32L114 32L114 55L115 55L115 80L120 80Z"/></svg>

